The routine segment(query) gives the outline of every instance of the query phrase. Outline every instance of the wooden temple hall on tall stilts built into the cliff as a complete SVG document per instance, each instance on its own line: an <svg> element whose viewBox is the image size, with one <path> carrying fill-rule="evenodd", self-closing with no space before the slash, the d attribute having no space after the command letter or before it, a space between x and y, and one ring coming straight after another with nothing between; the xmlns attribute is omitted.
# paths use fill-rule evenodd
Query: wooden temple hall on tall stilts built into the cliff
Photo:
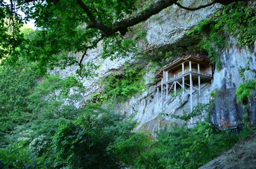
<svg viewBox="0 0 256 169"><path fill-rule="evenodd" d="M168 106L171 95L168 95L171 90L176 92L177 89L182 89L182 93L187 92L190 95L191 111L193 95L199 93L199 102L201 90L212 82L212 66L208 57L202 54L182 54L161 68L155 73L157 76L157 103ZM207 83L208 82L208 83ZM207 83L201 86L201 83ZM196 92L192 94L192 89ZM160 97L161 95L161 97ZM161 99L161 100L160 100Z"/></svg>

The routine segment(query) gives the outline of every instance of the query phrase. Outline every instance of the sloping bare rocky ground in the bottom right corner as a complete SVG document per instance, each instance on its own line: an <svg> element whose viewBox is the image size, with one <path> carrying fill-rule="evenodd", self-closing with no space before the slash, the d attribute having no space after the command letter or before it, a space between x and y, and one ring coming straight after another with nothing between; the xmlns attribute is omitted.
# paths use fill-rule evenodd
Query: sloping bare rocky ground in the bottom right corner
<svg viewBox="0 0 256 169"><path fill-rule="evenodd" d="M256 131L199 169L256 169Z"/></svg>

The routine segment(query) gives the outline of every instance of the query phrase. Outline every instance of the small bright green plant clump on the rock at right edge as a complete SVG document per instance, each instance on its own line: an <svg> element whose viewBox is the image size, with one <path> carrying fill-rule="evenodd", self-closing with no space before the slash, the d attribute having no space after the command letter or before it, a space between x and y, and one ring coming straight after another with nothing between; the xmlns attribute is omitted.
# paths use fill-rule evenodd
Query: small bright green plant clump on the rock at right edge
<svg viewBox="0 0 256 169"><path fill-rule="evenodd" d="M249 81L241 83L236 89L236 103L246 105L248 102L250 102L255 86L256 79L251 79Z"/></svg>

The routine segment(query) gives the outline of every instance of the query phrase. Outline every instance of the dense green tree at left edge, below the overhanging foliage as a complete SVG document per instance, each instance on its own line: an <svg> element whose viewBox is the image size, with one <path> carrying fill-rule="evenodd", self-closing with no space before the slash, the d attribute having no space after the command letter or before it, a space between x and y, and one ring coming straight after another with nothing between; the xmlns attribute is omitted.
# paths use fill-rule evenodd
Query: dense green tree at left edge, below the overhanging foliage
<svg viewBox="0 0 256 169"><path fill-rule="evenodd" d="M20 66L0 66L0 131L32 120L28 96L37 85L35 64L19 60Z"/></svg>

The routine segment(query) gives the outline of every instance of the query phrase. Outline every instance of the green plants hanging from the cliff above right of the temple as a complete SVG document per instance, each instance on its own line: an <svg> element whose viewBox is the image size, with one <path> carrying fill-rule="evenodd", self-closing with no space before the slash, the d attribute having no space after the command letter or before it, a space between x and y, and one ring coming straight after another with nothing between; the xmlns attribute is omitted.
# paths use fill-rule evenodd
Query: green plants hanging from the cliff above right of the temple
<svg viewBox="0 0 256 169"><path fill-rule="evenodd" d="M235 37L237 45L247 47L256 40L256 9L251 2L237 2L215 12L215 17L202 20L192 31L203 38L201 49L208 53L212 63L221 69L218 50L229 46L229 38Z"/></svg>

